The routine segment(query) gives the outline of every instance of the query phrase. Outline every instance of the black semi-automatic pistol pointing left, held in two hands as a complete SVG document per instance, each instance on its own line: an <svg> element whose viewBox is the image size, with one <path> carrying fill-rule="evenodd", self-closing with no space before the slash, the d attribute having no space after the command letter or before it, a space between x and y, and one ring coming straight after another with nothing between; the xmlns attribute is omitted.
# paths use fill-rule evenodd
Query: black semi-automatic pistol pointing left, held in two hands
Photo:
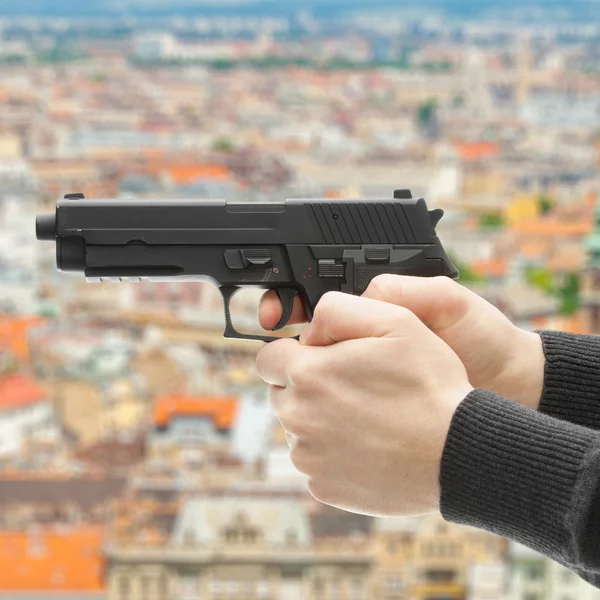
<svg viewBox="0 0 600 600"><path fill-rule="evenodd" d="M282 317L300 296L308 319L324 294L361 295L384 273L457 278L436 234L441 209L410 190L389 199L86 200L67 194L56 212L38 215L38 240L56 242L60 271L88 281L211 281L225 306L225 337L271 342L237 331L233 295L274 290Z"/></svg>

